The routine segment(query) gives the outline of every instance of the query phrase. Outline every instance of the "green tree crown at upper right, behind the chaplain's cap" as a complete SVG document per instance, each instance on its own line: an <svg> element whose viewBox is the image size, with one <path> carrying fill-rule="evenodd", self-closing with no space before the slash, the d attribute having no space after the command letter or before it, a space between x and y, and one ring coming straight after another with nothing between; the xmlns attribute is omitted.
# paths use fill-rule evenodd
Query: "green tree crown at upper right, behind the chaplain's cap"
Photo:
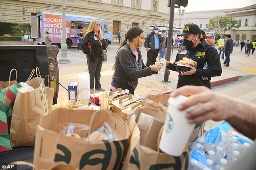
<svg viewBox="0 0 256 170"><path fill-rule="evenodd" d="M227 16L214 16L210 19L208 29L214 30L216 34L223 36L227 30L239 28L238 20Z"/></svg>

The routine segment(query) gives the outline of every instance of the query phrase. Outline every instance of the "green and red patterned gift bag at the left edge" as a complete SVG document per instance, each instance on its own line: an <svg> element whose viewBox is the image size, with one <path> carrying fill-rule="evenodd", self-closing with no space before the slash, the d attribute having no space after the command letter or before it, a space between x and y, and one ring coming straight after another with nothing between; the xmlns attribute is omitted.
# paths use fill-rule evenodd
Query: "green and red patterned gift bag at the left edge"
<svg viewBox="0 0 256 170"><path fill-rule="evenodd" d="M0 152L12 150L9 138L10 121L19 87L19 83L13 84L0 91Z"/></svg>

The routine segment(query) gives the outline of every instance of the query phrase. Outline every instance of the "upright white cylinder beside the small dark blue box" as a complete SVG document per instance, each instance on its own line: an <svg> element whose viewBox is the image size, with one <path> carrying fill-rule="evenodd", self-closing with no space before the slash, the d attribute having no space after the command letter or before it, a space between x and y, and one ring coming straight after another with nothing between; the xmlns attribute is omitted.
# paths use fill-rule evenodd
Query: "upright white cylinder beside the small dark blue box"
<svg viewBox="0 0 256 170"><path fill-rule="evenodd" d="M84 89L84 90L83 90ZM83 72L78 73L78 99L89 102L90 100L90 75Z"/></svg>

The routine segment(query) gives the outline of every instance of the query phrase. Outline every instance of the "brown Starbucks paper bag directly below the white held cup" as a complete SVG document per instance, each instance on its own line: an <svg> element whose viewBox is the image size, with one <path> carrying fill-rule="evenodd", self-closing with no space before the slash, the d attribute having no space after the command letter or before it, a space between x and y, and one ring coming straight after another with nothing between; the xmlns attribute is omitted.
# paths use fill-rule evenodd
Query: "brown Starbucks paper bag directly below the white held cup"
<svg viewBox="0 0 256 170"><path fill-rule="evenodd" d="M129 127L131 128L130 125ZM140 130L135 124L122 170L188 170L188 148L186 152L177 157L159 153L148 147L140 145L139 142Z"/></svg>

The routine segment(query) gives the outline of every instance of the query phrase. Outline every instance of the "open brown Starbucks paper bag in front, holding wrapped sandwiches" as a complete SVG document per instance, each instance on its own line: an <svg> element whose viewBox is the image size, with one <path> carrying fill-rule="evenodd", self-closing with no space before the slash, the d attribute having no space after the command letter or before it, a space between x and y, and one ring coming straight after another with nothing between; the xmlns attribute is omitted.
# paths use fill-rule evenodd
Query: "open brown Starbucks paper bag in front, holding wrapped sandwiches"
<svg viewBox="0 0 256 170"><path fill-rule="evenodd" d="M96 112L97 115L92 120ZM92 131L104 122L108 122L122 139L87 141L59 133L59 123L89 125L90 121L92 121ZM110 116L105 110L56 109L43 117L37 127L34 164L39 169L69 164L82 170L116 170L122 163L128 137L128 124L115 114L111 113Z"/></svg>

